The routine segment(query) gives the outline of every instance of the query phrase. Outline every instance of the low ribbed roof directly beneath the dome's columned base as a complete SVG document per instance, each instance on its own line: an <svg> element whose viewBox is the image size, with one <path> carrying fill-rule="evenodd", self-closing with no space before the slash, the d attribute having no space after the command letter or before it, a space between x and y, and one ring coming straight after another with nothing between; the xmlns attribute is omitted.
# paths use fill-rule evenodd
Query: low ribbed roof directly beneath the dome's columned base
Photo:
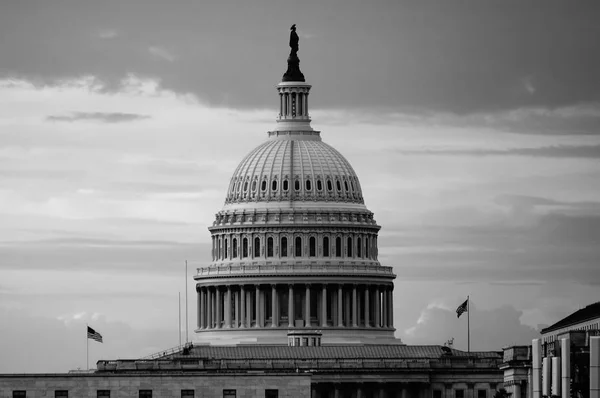
<svg viewBox="0 0 600 398"><path fill-rule="evenodd" d="M451 349L451 357L502 359L496 351L467 353ZM180 354L175 354L180 356ZM349 346L194 346L189 357L209 359L438 359L439 345L349 345Z"/></svg>

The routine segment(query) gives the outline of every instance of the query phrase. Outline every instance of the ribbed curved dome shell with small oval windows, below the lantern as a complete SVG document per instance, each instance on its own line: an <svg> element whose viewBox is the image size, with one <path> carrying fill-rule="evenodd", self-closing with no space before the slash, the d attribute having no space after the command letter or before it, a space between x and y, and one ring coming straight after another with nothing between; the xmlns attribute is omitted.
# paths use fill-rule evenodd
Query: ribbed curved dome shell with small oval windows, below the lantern
<svg viewBox="0 0 600 398"><path fill-rule="evenodd" d="M364 203L354 169L321 140L318 132L270 135L236 168L226 205L276 201Z"/></svg>

